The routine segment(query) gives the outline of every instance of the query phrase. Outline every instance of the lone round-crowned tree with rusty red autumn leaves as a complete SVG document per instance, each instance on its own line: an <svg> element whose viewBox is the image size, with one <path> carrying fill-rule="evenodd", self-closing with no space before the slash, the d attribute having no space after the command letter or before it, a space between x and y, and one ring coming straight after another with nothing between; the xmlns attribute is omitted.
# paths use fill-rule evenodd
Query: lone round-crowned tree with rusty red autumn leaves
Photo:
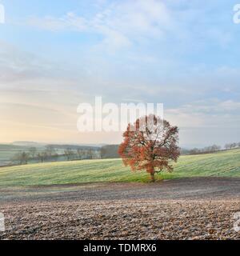
<svg viewBox="0 0 240 256"><path fill-rule="evenodd" d="M122 161L132 170L146 170L152 182L155 173L171 172L170 160L177 162L180 155L178 127L170 126L154 114L138 118L134 125L129 124L123 138L118 150Z"/></svg>

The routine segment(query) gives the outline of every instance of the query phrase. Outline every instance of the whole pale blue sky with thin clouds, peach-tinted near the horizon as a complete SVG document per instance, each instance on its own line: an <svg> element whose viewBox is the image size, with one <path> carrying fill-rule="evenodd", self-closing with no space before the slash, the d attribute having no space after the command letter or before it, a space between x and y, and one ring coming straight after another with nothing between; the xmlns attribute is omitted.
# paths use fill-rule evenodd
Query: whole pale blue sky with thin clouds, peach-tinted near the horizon
<svg viewBox="0 0 240 256"><path fill-rule="evenodd" d="M152 102L186 147L240 142L232 0L0 0L0 142L118 143L78 104Z"/></svg>

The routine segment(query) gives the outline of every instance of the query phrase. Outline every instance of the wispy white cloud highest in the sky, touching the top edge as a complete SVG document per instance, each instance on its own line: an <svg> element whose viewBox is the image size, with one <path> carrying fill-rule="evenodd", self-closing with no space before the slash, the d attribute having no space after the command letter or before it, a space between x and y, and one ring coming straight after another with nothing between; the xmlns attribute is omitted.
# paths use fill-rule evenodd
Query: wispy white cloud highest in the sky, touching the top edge
<svg viewBox="0 0 240 256"><path fill-rule="evenodd" d="M161 38L171 24L170 10L163 2L156 0L123 1L111 4L98 11L91 18L84 18L73 12L63 17L30 17L29 26L42 30L102 34L102 44L112 48L130 46L143 38Z"/></svg>

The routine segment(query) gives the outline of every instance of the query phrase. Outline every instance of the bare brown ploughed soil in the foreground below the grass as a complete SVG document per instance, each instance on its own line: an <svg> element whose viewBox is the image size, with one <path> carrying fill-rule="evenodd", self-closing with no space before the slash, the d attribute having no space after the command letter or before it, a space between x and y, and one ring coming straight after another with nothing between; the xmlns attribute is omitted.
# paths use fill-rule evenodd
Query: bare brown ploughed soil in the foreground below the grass
<svg viewBox="0 0 240 256"><path fill-rule="evenodd" d="M0 188L0 212L0 239L240 239L240 179Z"/></svg>

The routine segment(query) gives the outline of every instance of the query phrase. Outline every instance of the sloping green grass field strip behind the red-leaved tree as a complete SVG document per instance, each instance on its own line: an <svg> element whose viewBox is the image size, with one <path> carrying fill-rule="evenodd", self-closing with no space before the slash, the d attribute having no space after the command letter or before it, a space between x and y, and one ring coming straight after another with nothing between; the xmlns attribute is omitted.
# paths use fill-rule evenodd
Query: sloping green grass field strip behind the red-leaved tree
<svg viewBox="0 0 240 256"><path fill-rule="evenodd" d="M240 150L182 156L162 178L240 177ZM147 182L145 171L132 172L120 159L53 162L0 168L0 186L38 186L82 182Z"/></svg>

